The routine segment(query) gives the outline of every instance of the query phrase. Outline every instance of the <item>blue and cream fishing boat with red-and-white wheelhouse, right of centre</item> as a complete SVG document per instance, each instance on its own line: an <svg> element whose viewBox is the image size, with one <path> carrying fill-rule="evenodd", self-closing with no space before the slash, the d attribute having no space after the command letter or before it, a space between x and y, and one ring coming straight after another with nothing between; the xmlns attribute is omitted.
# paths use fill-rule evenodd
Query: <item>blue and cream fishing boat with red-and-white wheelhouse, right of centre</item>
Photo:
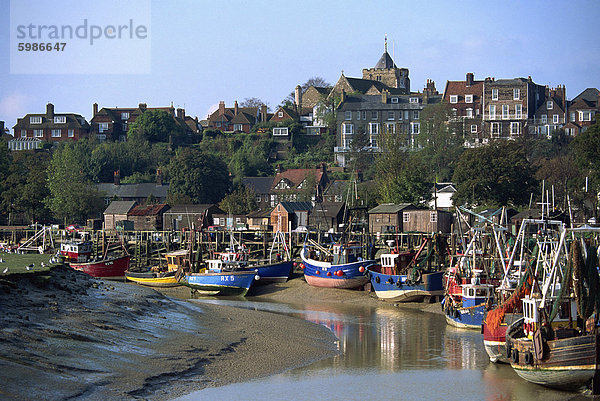
<svg viewBox="0 0 600 401"><path fill-rule="evenodd" d="M417 263L423 250L431 242L424 238L419 250L400 251L395 247L390 253L380 256L381 263L368 269L371 286L377 298L388 302L416 302L441 299L444 288L444 271L428 271L426 262L432 256L434 248Z"/></svg>

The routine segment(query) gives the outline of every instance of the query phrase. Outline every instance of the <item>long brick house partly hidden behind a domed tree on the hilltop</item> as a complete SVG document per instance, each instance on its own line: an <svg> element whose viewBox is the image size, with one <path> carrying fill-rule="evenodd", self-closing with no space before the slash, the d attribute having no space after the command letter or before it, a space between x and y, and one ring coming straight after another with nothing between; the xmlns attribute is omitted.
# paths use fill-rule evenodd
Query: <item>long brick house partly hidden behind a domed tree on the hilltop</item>
<svg viewBox="0 0 600 401"><path fill-rule="evenodd" d="M98 110L98 104L93 105L93 116L90 120L92 134L96 136L99 142L106 140L121 141L127 140L127 130L135 120L148 110L164 110L169 113L175 122L188 133L200 133L200 123L197 118L186 116L185 109L175 109L169 107L148 107L146 103L140 103L138 107L103 107Z"/></svg>

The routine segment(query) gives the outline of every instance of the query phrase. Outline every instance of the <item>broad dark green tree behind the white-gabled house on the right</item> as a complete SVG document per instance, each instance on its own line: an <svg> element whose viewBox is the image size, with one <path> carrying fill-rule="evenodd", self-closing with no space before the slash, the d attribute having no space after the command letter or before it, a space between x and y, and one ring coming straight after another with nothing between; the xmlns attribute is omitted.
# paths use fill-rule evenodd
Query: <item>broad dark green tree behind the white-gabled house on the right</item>
<svg viewBox="0 0 600 401"><path fill-rule="evenodd" d="M496 141L467 149L458 160L452 182L455 204L520 206L535 190L533 169L521 143Z"/></svg>

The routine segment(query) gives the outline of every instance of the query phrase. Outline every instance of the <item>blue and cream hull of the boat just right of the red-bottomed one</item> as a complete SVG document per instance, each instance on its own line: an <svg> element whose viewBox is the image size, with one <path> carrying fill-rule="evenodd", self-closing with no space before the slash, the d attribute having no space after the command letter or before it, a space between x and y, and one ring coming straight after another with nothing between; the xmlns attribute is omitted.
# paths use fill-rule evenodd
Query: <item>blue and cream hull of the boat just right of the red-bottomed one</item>
<svg viewBox="0 0 600 401"><path fill-rule="evenodd" d="M421 283L406 284L406 275L383 274L369 270L371 285L377 298L387 302L415 302L444 293L442 278L444 272L423 275Z"/></svg>

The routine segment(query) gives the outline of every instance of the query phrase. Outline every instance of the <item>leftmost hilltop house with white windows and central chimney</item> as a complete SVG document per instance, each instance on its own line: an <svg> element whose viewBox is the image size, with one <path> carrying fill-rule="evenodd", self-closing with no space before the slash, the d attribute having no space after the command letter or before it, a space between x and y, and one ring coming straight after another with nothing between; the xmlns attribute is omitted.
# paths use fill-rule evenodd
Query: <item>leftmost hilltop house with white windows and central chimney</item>
<svg viewBox="0 0 600 401"><path fill-rule="evenodd" d="M55 113L54 105L46 105L44 114L27 114L13 127L14 137L34 138L42 142L77 141L90 134L90 124L75 113Z"/></svg>

